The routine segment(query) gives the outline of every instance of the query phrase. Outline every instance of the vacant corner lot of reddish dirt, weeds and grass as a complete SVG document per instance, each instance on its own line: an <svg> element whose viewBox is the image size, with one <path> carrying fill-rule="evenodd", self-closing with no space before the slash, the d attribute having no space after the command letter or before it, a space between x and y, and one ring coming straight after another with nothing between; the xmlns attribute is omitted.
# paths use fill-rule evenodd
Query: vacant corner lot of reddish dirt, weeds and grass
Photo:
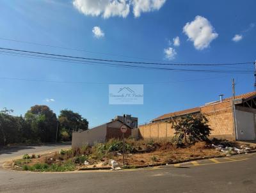
<svg viewBox="0 0 256 193"><path fill-rule="evenodd" d="M214 146L213 146L214 144ZM234 147L241 144L218 139L197 141L183 146L177 138L162 140L125 140L125 165L122 165L122 140L111 139L94 146L84 145L74 150L60 150L45 155L24 155L15 160L13 169L25 171L74 171L76 169L109 168L115 160L124 169L158 166L194 160L198 158L218 157L237 153ZM216 150L216 146L228 146L227 152Z"/></svg>

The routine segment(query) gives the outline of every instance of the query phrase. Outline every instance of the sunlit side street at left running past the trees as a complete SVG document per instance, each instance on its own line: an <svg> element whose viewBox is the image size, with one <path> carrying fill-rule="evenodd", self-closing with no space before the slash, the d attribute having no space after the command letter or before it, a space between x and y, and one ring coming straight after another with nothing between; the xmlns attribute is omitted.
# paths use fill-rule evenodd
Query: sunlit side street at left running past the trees
<svg viewBox="0 0 256 193"><path fill-rule="evenodd" d="M28 153L46 153L48 151L60 150L65 148L71 148L71 143L61 143L61 144L44 144L41 146L15 146L10 148L0 149L0 166L6 160L12 158L19 158L22 155Z"/></svg>

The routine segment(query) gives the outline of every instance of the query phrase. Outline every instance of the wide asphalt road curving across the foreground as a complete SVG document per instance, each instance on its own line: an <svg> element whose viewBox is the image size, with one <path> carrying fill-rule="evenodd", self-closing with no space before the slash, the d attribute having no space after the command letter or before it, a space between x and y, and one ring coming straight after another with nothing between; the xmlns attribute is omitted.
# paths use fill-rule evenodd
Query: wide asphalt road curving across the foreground
<svg viewBox="0 0 256 193"><path fill-rule="evenodd" d="M24 173L0 169L0 192L256 192L256 154L161 169Z"/></svg>

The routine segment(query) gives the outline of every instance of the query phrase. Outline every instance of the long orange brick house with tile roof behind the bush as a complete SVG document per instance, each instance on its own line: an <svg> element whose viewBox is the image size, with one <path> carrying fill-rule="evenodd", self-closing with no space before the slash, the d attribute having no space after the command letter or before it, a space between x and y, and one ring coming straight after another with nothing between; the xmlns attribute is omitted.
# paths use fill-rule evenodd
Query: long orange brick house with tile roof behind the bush
<svg viewBox="0 0 256 193"><path fill-rule="evenodd" d="M234 102L234 105L233 105ZM210 137L230 140L256 139L256 92L245 93L234 98L220 98L201 107L163 114L147 125L139 126L142 138L173 137L174 129L168 123L171 118L186 114L202 113L212 129Z"/></svg>

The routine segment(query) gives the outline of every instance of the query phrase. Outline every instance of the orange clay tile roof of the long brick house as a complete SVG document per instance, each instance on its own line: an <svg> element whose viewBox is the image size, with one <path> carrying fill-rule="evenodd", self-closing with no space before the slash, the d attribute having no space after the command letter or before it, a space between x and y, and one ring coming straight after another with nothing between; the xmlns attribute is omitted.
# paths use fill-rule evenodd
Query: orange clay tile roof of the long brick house
<svg viewBox="0 0 256 193"><path fill-rule="evenodd" d="M243 95L237 95L236 99L243 98L244 100L247 100L247 99L251 98L252 96L256 96L256 91L251 92L251 93L245 93ZM223 98L222 102L227 102L227 101L230 101L230 100L232 100L232 97ZM216 103L220 103L220 101L212 102L211 104L216 104ZM155 118L152 121L159 121L159 120L164 120L164 119L167 119L167 118L171 118L173 116L181 116L181 115L185 115L185 114L200 112L200 110L201 110L200 107L195 107L195 108L192 108L192 109L186 109L184 111L170 112L170 113L167 113L167 114L163 114L162 116L159 116L158 118Z"/></svg>

